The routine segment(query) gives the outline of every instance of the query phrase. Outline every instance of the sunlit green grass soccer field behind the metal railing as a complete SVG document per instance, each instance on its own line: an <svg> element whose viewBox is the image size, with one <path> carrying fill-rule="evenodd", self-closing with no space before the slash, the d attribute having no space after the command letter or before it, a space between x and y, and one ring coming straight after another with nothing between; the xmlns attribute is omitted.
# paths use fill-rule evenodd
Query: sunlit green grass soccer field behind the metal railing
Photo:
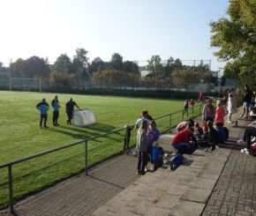
<svg viewBox="0 0 256 216"><path fill-rule="evenodd" d="M122 98L109 96L58 94L60 101L60 126L52 126L49 109L49 129L39 128L39 113L35 105L46 98L49 102L54 93L0 92L0 164L48 151L62 145L100 135L109 130L123 128L139 118L141 110L147 109L153 117L169 114L183 108L184 101ZM98 123L86 128L66 124L65 102L72 97L80 108L94 112ZM172 123L181 120L181 114L173 117ZM158 128L166 130L169 117L156 121ZM135 132L132 131L132 144ZM92 166L111 154L123 150L124 131L90 141L88 165ZM76 145L57 153L50 153L34 160L13 166L13 191L16 200L54 182L77 174L85 168L85 146ZM7 205L7 168L0 169L0 208Z"/></svg>

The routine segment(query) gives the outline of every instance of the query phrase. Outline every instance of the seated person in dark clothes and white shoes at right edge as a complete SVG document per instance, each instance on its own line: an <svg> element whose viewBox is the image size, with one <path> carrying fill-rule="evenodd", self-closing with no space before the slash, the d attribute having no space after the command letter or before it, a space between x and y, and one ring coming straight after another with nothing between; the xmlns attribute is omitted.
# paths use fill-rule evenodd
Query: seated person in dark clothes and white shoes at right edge
<svg viewBox="0 0 256 216"><path fill-rule="evenodd" d="M253 137L256 137L256 121L248 124L247 127L245 128L244 137L242 139L237 140L238 144L247 145L245 149L241 150L241 153L249 154Z"/></svg>

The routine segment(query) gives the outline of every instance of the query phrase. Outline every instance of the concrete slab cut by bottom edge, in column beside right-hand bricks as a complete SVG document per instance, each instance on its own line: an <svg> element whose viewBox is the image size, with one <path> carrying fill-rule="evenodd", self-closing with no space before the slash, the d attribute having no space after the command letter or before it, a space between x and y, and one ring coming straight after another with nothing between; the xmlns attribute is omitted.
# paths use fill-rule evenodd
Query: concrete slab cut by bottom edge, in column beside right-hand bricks
<svg viewBox="0 0 256 216"><path fill-rule="evenodd" d="M204 206L200 203L178 200L170 210L169 216L197 216L203 212Z"/></svg>

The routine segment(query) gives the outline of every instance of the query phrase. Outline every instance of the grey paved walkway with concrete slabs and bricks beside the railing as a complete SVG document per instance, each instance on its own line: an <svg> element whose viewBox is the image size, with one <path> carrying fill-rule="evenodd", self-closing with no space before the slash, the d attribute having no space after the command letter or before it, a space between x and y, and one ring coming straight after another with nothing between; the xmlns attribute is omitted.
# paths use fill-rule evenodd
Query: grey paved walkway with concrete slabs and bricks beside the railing
<svg viewBox="0 0 256 216"><path fill-rule="evenodd" d="M240 153L245 146L236 144L245 124L241 120L230 128L227 145L215 153L197 150L175 172L169 170L169 157L162 168L140 177L137 160L120 155L89 175L28 197L15 205L15 211L18 215L256 215L256 160ZM161 137L168 151L171 137Z"/></svg>

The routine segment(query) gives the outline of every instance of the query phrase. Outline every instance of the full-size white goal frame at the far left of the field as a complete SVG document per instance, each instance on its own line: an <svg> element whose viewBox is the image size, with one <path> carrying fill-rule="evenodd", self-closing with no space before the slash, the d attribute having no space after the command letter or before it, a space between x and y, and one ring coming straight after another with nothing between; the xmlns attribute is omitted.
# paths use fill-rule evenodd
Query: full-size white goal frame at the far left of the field
<svg viewBox="0 0 256 216"><path fill-rule="evenodd" d="M41 93L41 78L9 78L9 89L12 90L38 90Z"/></svg>

